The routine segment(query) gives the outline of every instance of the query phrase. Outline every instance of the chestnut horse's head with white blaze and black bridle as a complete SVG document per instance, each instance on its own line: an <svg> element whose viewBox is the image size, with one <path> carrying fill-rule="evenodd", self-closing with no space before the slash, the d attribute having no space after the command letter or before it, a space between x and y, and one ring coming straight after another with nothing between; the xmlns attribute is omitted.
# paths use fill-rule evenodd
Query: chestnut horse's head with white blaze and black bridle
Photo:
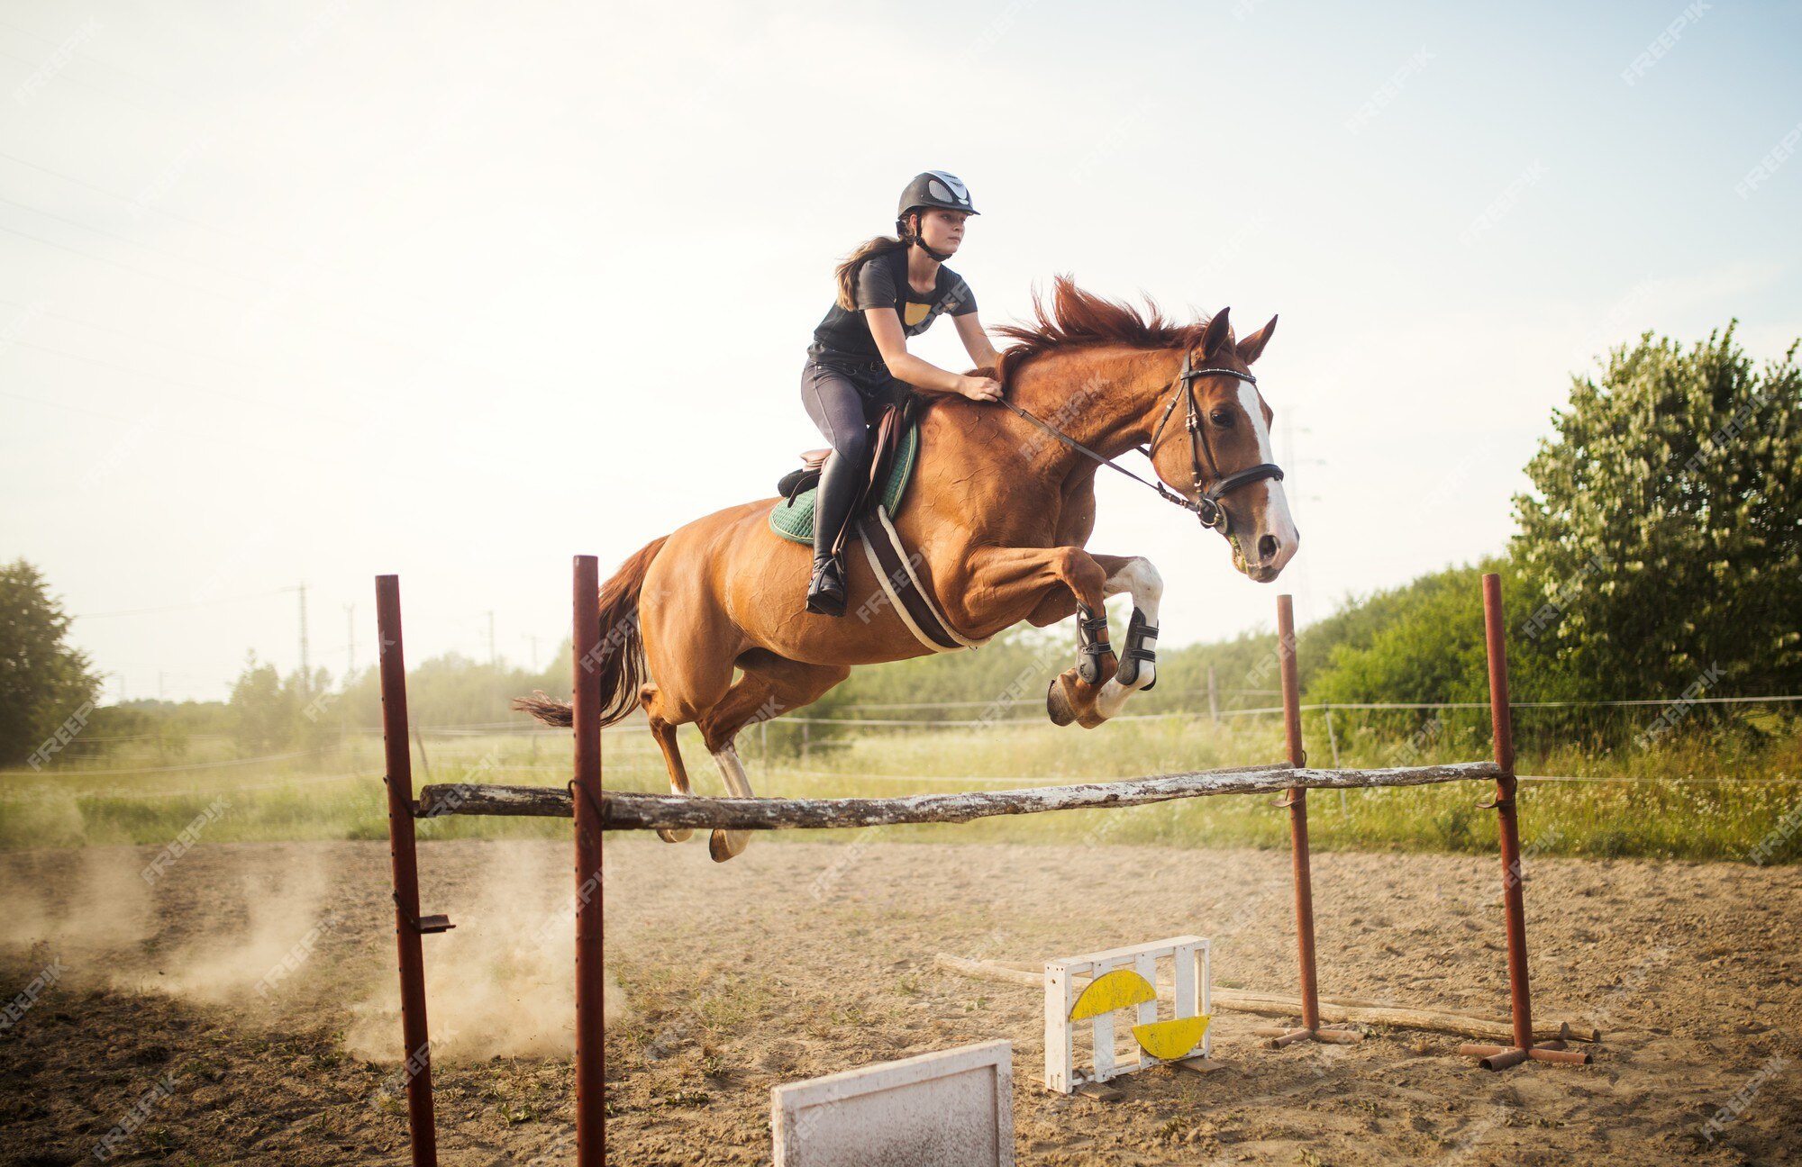
<svg viewBox="0 0 1802 1167"><path fill-rule="evenodd" d="M1159 400L1150 445L1157 475L1225 537L1233 565L1258 584L1274 580L1301 542L1270 448L1270 405L1251 373L1274 331L1270 317L1234 340L1222 308L1200 342L1184 348L1182 371Z"/></svg>

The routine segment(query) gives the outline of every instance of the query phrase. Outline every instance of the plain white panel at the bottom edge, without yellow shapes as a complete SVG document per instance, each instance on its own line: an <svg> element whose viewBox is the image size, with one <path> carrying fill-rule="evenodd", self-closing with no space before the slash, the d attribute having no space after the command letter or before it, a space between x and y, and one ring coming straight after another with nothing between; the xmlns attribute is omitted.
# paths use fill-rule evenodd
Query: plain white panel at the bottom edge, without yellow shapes
<svg viewBox="0 0 1802 1167"><path fill-rule="evenodd" d="M1013 1167L1013 1045L777 1086L769 1127L775 1167Z"/></svg>

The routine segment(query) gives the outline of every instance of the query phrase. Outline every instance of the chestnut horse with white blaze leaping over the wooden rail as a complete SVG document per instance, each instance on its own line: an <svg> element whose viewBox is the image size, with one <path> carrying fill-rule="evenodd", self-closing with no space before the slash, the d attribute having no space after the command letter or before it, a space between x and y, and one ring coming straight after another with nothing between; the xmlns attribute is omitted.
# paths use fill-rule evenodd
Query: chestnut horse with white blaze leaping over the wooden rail
<svg viewBox="0 0 1802 1167"><path fill-rule="evenodd" d="M1233 565L1254 582L1269 584L1296 555L1272 411L1251 375L1276 317L1236 340L1227 310L1175 324L1155 303L1141 313L1069 276L1056 277L1051 310L1034 294L1033 317L995 330L1015 340L993 371L1002 403L923 402L915 477L894 526L962 638L1083 616L1078 663L1051 681L1047 713L1092 729L1155 683L1164 589L1141 555L1083 549L1101 465L1126 472L1112 459L1148 454L1157 481L1146 484L1225 535ZM1188 441L1168 425L1179 402ZM602 726L642 708L676 794L692 792L678 726L697 722L726 789L751 798L735 749L742 728L805 708L852 666L930 652L854 555L845 556L851 614L807 612L813 556L769 531L775 502L732 506L654 538L600 589L604 639L582 665L600 672ZM1105 609L1121 593L1133 603L1124 665ZM514 708L571 724L571 706L542 692ZM679 843L692 830L658 834ZM724 863L746 843L748 832L714 830L708 854Z"/></svg>

